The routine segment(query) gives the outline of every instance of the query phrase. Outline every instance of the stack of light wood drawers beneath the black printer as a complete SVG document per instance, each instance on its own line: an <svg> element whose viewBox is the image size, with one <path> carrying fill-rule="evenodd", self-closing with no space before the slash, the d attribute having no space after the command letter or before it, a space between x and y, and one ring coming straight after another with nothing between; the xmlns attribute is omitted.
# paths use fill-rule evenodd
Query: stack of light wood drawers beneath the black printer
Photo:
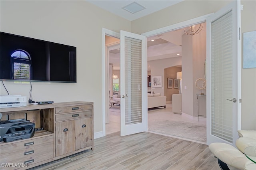
<svg viewBox="0 0 256 170"><path fill-rule="evenodd" d="M38 163L54 156L54 135L1 146L1 163Z"/></svg>

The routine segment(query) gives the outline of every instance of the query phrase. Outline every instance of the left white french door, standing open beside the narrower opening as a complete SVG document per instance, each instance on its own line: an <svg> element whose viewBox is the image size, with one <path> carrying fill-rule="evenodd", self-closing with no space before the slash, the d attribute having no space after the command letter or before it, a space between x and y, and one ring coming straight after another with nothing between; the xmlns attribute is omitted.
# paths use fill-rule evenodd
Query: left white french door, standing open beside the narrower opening
<svg viewBox="0 0 256 170"><path fill-rule="evenodd" d="M121 136L147 131L146 37L120 31Z"/></svg>

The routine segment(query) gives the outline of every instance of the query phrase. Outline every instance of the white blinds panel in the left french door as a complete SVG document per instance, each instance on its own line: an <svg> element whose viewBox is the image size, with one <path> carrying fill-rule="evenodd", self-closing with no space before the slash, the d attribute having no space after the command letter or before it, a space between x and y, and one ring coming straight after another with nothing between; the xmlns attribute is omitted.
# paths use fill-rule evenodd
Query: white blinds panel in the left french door
<svg viewBox="0 0 256 170"><path fill-rule="evenodd" d="M125 37L125 125L142 123L142 41Z"/></svg>

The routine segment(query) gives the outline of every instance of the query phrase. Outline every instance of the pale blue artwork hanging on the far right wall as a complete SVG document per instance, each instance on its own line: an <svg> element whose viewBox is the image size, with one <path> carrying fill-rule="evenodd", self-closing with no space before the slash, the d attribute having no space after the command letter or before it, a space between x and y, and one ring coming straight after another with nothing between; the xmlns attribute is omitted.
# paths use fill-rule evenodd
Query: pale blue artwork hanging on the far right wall
<svg viewBox="0 0 256 170"><path fill-rule="evenodd" d="M243 44L244 69L256 68L256 31L245 32Z"/></svg>

